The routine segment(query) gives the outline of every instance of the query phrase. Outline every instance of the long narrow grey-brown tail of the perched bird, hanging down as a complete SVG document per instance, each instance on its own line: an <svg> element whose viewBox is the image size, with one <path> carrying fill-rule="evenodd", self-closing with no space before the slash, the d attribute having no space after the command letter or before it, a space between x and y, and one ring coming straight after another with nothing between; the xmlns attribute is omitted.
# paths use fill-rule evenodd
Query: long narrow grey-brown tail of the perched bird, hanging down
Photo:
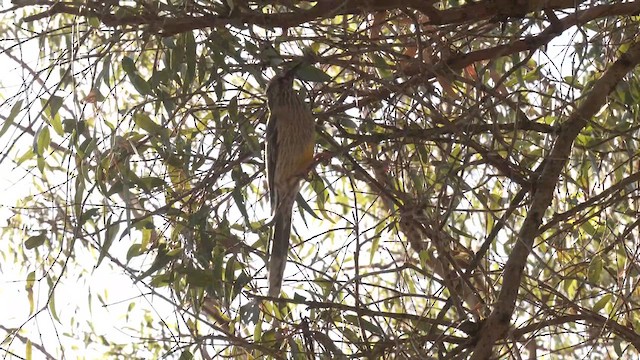
<svg viewBox="0 0 640 360"><path fill-rule="evenodd" d="M272 297L280 296L282 277L289 252L292 209L293 203L283 203L277 209L273 219L273 237L271 238L271 256L269 258L269 296Z"/></svg>

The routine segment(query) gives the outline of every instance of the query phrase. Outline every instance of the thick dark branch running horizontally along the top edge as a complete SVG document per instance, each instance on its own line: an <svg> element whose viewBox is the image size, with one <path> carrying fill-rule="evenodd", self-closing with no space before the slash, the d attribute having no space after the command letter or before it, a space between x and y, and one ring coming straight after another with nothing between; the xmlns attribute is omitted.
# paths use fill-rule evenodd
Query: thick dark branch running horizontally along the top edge
<svg viewBox="0 0 640 360"><path fill-rule="evenodd" d="M541 10L575 9L584 0L485 0L452 9L437 10L433 0L408 0L402 3L389 0L325 0L306 10L286 13L265 14L262 9L239 10L231 14L205 14L194 16L167 17L150 14L116 16L115 13L103 13L87 8L84 3L73 4L41 0L14 0L16 6L49 5L44 12L27 16L25 22L35 21L55 14L70 14L84 17L96 17L107 26L149 25L162 36L171 36L195 29L241 26L251 24L266 28L295 27L311 21L326 19L336 15L357 15L363 12L415 9L429 17L428 25L451 25L476 22L494 17L524 17L526 14ZM603 5L606 8L618 8L637 5L634 3Z"/></svg>

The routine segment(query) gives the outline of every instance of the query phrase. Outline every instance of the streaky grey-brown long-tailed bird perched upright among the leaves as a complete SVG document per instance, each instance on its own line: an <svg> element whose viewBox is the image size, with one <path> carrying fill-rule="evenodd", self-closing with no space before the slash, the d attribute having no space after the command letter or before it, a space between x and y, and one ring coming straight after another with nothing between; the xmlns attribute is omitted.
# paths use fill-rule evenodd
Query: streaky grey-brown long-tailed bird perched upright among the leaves
<svg viewBox="0 0 640 360"><path fill-rule="evenodd" d="M295 69L274 76L266 88L269 117L265 163L273 228L268 295L279 297L287 264L293 203L314 161L313 113L293 89Z"/></svg>

